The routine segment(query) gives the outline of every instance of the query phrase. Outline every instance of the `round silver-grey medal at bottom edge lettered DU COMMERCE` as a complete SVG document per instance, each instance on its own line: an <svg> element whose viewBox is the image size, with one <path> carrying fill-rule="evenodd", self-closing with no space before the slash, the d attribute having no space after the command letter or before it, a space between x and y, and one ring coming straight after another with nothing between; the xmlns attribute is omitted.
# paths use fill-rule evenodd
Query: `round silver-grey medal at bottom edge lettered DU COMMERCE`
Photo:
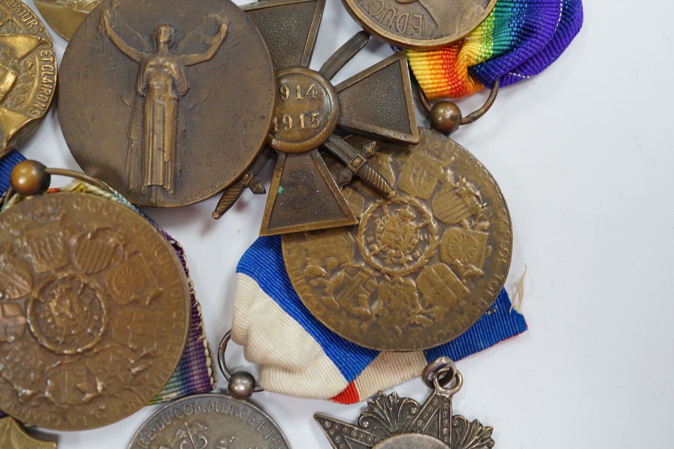
<svg viewBox="0 0 674 449"><path fill-rule="evenodd" d="M128 449L290 449L278 425L249 402L195 394L164 405L138 429Z"/></svg>

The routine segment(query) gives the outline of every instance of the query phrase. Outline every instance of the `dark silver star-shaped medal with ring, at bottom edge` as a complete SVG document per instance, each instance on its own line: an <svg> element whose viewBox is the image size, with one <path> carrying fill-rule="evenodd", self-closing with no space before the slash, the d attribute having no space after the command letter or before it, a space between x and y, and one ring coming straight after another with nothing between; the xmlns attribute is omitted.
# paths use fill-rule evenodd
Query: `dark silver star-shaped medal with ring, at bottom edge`
<svg viewBox="0 0 674 449"><path fill-rule="evenodd" d="M441 357L446 358L446 357ZM453 362L452 362L453 365ZM443 367L438 372L447 372ZM357 424L345 423L325 415L314 415L333 449L489 449L493 427L480 421L454 415L452 401L460 390L463 379L454 371L456 384L443 388L436 380L433 392L423 403L398 393L377 393L367 401L367 410L361 413Z"/></svg>

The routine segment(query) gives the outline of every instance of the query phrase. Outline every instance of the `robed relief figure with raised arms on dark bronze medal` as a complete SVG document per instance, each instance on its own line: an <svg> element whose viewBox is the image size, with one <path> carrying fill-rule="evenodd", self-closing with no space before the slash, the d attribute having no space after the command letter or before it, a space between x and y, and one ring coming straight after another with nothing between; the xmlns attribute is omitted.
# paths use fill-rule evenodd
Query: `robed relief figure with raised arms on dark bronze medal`
<svg viewBox="0 0 674 449"><path fill-rule="evenodd" d="M110 38L117 48L138 65L135 80L135 93L143 101L142 129L134 129L135 120L129 125L129 155L125 172L129 176L129 189L138 188L148 191L154 203L164 193L175 192L177 166L181 155L177 151L177 133L179 129L178 102L189 90L185 67L210 61L220 49L227 36L229 21L217 14L208 14L202 24L214 20L219 26L214 36L204 36L199 28L200 39L208 48L202 53L172 53L175 44L175 29L162 24L154 30L154 51L143 51L128 44L111 26L111 13L104 9L100 15L103 38ZM135 32L134 32L135 33ZM137 33L136 33L137 34ZM187 36L192 34L188 33ZM140 36L140 34L137 34ZM183 40L185 40L183 38ZM182 41L181 41L182 42ZM176 46L180 46L178 42ZM134 108L134 113L140 112ZM140 127L139 127L140 128ZM141 134L139 136L138 134ZM131 176L133 168L133 141L142 140L142 168L140 180ZM138 182L140 181L140 182ZM140 185L138 185L140 184Z"/></svg>

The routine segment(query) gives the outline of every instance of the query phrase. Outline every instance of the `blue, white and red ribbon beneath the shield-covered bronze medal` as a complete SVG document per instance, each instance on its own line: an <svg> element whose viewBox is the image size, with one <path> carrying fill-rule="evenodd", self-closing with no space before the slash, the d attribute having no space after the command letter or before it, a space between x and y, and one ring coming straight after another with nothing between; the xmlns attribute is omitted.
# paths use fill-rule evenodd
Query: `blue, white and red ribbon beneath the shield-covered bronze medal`
<svg viewBox="0 0 674 449"><path fill-rule="evenodd" d="M232 339L259 364L265 390L350 404L419 376L441 355L454 360L526 331L501 290L494 304L460 337L425 351L380 352L352 343L321 324L293 288L280 236L260 237L237 265Z"/></svg>

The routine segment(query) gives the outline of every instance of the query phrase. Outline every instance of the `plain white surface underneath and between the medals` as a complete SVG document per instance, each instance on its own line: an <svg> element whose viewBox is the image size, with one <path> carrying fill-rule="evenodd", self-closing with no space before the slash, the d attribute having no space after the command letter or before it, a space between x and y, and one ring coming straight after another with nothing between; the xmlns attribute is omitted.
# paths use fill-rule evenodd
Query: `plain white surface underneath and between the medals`
<svg viewBox="0 0 674 449"><path fill-rule="evenodd" d="M559 60L501 90L489 113L452 135L489 168L508 200L510 293L528 265L522 311L529 331L458 362L464 387L454 411L492 425L496 448L669 447L674 3L647 5L586 1L584 26ZM339 0L328 0L311 68L359 29ZM67 42L50 34L60 60ZM371 39L334 81L391 53ZM485 98L482 92L460 106L468 112ZM56 108L20 151L80 170ZM267 185L271 170L264 171ZM145 209L185 246L212 347L231 325L235 266L257 237L266 195L246 191L218 221L210 217L217 199ZM239 368L247 366L241 353L228 351ZM429 392L419 379L397 390L418 401ZM313 413L354 421L364 408L267 392L253 402L276 419L293 449L330 447ZM125 448L157 408L101 429L60 432L59 447Z"/></svg>

